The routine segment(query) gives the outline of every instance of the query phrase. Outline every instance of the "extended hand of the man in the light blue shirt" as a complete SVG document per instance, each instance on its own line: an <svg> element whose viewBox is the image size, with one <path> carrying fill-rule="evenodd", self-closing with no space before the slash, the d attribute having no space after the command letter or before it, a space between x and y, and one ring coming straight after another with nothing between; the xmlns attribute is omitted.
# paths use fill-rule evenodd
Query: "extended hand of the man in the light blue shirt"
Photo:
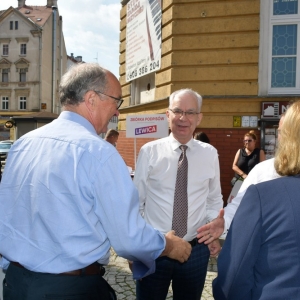
<svg viewBox="0 0 300 300"><path fill-rule="evenodd" d="M188 260L191 255L192 246L185 240L175 235L175 231L171 230L166 235L166 247L160 256L168 256L176 259L181 263Z"/></svg>

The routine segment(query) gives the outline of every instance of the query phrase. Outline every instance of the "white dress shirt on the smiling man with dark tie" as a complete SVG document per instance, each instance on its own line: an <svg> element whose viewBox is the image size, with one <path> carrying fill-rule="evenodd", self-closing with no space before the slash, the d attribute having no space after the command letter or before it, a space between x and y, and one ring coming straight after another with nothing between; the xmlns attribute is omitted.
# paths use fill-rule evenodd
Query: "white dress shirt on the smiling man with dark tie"
<svg viewBox="0 0 300 300"><path fill-rule="evenodd" d="M139 191L140 212L146 222L162 233L172 228L173 203L181 144L170 136L144 145L139 153L134 183ZM197 229L218 216L223 207L217 150L191 139L188 159L188 231L190 241Z"/></svg>

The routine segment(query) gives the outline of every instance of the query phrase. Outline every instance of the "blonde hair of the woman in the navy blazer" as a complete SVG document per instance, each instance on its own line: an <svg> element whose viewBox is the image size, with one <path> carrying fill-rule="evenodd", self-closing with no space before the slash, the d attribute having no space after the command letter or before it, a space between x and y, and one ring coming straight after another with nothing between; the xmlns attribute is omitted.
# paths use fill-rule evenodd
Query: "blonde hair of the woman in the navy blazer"
<svg viewBox="0 0 300 300"><path fill-rule="evenodd" d="M300 101L293 103L286 111L274 166L281 176L300 173Z"/></svg>

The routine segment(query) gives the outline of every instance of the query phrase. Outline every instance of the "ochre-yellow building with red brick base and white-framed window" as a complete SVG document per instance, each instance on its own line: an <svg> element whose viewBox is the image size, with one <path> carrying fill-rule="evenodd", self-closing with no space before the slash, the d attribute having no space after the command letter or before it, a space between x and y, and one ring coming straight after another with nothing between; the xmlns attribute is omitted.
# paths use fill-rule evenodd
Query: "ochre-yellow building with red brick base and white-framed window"
<svg viewBox="0 0 300 300"><path fill-rule="evenodd" d="M253 129L258 146L265 151L273 146L267 145L266 134L274 132L276 138L283 111L273 109L273 115L264 118L264 105L284 110L290 101L300 99L298 0L146 1L161 6L161 67L126 81L129 1L122 1L120 82L125 102L118 150L127 165L134 166L134 141L126 139L126 117L165 113L173 91L192 88L203 96L204 116L197 131L206 132L218 150L226 203L232 163L243 147L244 134ZM139 139L137 149L147 141Z"/></svg>

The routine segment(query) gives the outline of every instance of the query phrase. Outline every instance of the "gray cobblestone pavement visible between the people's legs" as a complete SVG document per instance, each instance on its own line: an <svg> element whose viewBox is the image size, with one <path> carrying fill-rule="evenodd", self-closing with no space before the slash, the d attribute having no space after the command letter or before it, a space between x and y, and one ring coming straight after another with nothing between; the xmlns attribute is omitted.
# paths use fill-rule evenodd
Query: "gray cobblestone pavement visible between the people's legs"
<svg viewBox="0 0 300 300"><path fill-rule="evenodd" d="M128 267L127 260L119 257L111 250L111 258L108 266L105 267L104 278L116 291L118 300L135 300L135 282ZM217 262L212 258L209 261L206 281L201 300L213 300L211 284L217 276ZM168 300L173 299L172 290L169 290Z"/></svg>

